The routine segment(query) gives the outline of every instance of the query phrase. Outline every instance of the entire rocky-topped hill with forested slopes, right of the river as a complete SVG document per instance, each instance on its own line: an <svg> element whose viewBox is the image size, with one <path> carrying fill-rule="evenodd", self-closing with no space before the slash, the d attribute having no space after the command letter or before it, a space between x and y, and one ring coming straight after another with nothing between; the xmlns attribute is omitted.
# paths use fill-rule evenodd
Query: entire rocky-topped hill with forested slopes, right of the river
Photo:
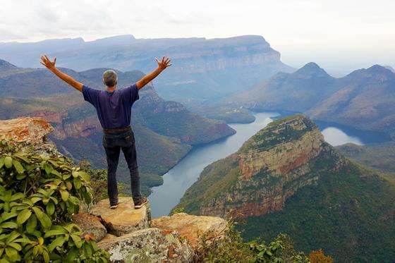
<svg viewBox="0 0 395 263"><path fill-rule="evenodd" d="M238 228L248 239L287 233L298 250L322 247L336 262L391 262L394 198L394 185L343 157L298 115L207 166L176 208L244 221Z"/></svg>

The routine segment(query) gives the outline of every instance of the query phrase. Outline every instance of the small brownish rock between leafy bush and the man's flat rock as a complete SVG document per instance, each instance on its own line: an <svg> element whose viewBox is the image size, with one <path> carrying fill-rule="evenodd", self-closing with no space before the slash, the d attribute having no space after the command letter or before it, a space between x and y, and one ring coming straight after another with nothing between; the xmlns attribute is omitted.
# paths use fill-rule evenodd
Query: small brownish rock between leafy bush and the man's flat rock
<svg viewBox="0 0 395 263"><path fill-rule="evenodd" d="M83 236L93 234L95 240L99 241L107 234L107 229L100 222L99 217L92 216L92 214L78 213L73 214L71 219L75 224L80 226L83 231Z"/></svg>

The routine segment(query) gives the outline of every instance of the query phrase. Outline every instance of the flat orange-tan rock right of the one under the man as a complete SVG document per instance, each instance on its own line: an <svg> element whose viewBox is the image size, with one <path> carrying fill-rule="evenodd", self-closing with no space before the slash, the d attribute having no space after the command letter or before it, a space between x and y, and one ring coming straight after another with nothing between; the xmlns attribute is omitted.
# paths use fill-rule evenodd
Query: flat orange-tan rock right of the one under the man
<svg viewBox="0 0 395 263"><path fill-rule="evenodd" d="M208 234L209 236L224 236L228 223L220 217L214 216L193 216L185 213L174 214L173 216L162 216L152 219L152 227L163 231L177 231L188 243L197 250L199 248L199 238Z"/></svg>

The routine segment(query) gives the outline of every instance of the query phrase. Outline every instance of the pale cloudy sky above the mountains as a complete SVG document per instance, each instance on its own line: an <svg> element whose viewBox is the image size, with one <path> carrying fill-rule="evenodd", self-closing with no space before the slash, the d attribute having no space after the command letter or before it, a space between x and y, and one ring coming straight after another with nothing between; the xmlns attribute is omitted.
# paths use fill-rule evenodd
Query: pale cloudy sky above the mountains
<svg viewBox="0 0 395 263"><path fill-rule="evenodd" d="M394 0L1 0L0 42L262 35L298 68L395 68Z"/></svg>

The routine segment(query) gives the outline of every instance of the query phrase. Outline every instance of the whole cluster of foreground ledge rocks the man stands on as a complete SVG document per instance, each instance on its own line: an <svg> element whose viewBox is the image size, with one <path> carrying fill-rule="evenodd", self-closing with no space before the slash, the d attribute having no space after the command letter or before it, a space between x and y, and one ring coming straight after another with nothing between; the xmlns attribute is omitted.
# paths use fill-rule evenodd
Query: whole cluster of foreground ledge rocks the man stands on
<svg viewBox="0 0 395 263"><path fill-rule="evenodd" d="M227 228L219 217L184 213L151 220L150 205L134 209L131 197L121 197L116 209L102 200L73 221L110 253L111 262L193 262L201 237L223 238Z"/></svg>

